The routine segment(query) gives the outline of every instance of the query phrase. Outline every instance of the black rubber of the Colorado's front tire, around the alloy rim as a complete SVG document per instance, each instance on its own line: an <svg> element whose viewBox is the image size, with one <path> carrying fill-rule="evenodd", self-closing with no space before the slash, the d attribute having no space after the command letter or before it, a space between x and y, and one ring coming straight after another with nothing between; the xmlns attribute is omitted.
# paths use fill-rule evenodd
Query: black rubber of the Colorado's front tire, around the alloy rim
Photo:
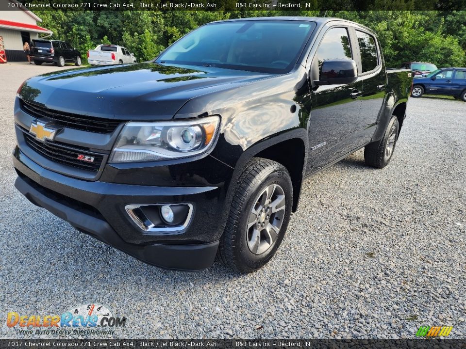
<svg viewBox="0 0 466 349"><path fill-rule="evenodd" d="M280 246L291 216L293 185L290 175L283 165L262 158L250 159L237 183L238 185L233 193L233 201L227 224L220 239L218 256L223 264L233 270L248 273L263 267L273 257ZM283 218L281 219L282 223L275 240L273 240L268 249L260 254L257 254L259 251L252 253L248 245L248 234L250 233L250 229L248 229L248 225L250 224L248 223L250 223L250 218L254 216L252 210L256 207L261 207L256 206L259 203L257 201L258 196L266 188L270 188L270 186L280 188L284 194L285 207ZM272 212L272 209L267 208L267 212ZM270 222L272 222L272 217L268 217L270 217ZM257 217L257 220L259 219ZM274 217L275 219L277 218ZM260 233L260 236L262 236L262 233ZM267 248L267 243L265 248Z"/></svg>

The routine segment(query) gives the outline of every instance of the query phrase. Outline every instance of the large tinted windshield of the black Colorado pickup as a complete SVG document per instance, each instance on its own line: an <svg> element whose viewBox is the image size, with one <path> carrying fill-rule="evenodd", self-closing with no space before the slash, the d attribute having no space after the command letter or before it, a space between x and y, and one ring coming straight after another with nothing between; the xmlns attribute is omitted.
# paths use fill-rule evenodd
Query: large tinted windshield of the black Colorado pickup
<svg viewBox="0 0 466 349"><path fill-rule="evenodd" d="M185 35L156 62L285 73L315 27L314 22L286 20L212 23Z"/></svg>

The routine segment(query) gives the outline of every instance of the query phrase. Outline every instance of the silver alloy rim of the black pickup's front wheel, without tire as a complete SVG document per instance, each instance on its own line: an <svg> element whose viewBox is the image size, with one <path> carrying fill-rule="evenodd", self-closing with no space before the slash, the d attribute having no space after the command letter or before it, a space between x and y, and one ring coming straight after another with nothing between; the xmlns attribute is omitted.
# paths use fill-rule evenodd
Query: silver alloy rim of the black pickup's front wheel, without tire
<svg viewBox="0 0 466 349"><path fill-rule="evenodd" d="M277 240L286 208L285 193L278 184L261 191L250 209L246 239L253 254L263 254Z"/></svg>

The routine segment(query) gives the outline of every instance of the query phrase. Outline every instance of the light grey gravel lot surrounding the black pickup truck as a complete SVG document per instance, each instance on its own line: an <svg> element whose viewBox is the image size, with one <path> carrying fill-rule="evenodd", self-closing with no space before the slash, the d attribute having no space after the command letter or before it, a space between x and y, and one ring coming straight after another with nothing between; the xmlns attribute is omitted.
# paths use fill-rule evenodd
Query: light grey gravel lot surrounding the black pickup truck
<svg viewBox="0 0 466 349"><path fill-rule="evenodd" d="M9 311L88 303L127 317L114 337L399 338L421 325L466 337L466 103L412 98L387 168L367 168L361 150L307 180L262 270L187 273L80 234L14 188L16 90L60 69L0 64L1 337L24 337L6 326Z"/></svg>

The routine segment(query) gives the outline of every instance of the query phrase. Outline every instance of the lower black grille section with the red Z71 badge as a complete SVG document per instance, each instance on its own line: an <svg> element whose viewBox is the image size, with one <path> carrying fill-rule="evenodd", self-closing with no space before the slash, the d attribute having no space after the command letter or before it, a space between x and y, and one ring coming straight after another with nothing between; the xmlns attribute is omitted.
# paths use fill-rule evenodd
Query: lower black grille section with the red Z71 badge
<svg viewBox="0 0 466 349"><path fill-rule="evenodd" d="M24 132L24 139L31 148L43 157L68 166L96 172L100 169L100 165L103 161L103 155L91 153L85 148L74 146L71 148L69 146L62 145L61 143L49 141L42 143L26 132ZM93 157L94 162L79 160L79 155Z"/></svg>

